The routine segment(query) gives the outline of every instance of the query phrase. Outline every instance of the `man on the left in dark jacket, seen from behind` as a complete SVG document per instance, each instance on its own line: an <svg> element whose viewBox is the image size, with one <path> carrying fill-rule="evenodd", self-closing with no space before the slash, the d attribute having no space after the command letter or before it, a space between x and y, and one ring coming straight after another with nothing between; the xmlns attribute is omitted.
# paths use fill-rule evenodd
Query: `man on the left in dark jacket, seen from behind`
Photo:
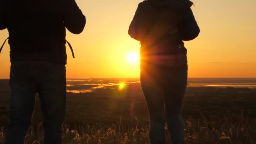
<svg viewBox="0 0 256 144"><path fill-rule="evenodd" d="M43 113L44 143L63 143L65 27L80 34L85 23L75 0L0 0L0 30L8 28L11 47L10 122L5 144L24 143L36 93Z"/></svg>

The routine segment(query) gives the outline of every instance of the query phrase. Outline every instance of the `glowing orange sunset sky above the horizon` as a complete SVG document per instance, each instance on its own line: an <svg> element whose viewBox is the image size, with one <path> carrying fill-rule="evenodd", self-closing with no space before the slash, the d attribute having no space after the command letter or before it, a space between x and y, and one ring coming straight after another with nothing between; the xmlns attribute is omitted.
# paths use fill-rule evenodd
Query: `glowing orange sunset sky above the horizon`
<svg viewBox="0 0 256 144"><path fill-rule="evenodd" d="M139 63L127 55L139 53L128 26L142 0L77 0L86 15L81 35L67 32L75 59L67 48L67 77L139 77ZM192 8L200 36L186 42L189 77L256 77L256 1L196 0ZM8 37L0 31L0 45ZM9 45L0 54L0 79L9 78Z"/></svg>

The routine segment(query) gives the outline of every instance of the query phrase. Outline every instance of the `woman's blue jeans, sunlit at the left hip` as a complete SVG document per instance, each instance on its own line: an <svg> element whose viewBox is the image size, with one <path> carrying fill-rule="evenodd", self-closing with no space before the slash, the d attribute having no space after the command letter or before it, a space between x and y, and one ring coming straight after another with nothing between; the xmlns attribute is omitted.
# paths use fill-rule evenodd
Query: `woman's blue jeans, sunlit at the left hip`
<svg viewBox="0 0 256 144"><path fill-rule="evenodd" d="M141 69L141 87L149 110L149 140L165 144L165 121L173 144L185 144L181 107L187 69Z"/></svg>

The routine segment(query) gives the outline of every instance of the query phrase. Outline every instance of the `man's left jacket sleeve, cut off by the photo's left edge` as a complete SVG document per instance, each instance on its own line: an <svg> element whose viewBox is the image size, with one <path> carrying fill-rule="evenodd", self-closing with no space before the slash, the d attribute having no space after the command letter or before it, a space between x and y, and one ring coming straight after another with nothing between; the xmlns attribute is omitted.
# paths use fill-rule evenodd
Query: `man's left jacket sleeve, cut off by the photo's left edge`
<svg viewBox="0 0 256 144"><path fill-rule="evenodd" d="M8 28L6 0L0 0L0 30Z"/></svg>

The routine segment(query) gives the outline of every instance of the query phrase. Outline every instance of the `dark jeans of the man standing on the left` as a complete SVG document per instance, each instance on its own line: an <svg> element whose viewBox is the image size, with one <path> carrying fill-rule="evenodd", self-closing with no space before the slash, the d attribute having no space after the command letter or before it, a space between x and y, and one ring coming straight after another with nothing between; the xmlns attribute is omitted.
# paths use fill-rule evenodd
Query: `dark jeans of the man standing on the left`
<svg viewBox="0 0 256 144"><path fill-rule="evenodd" d="M39 93L45 144L62 144L66 109L64 64L16 62L11 64L10 122L5 144L23 144L31 124L35 94Z"/></svg>

